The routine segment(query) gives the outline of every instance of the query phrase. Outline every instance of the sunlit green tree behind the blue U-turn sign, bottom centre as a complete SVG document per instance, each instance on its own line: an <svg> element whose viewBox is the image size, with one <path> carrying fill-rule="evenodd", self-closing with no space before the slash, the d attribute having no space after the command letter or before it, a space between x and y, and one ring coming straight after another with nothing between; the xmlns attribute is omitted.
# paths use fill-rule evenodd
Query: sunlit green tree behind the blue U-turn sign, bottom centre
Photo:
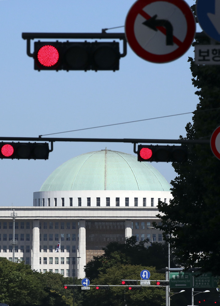
<svg viewBox="0 0 220 306"><path fill-rule="evenodd" d="M157 287L144 287L140 291L128 290L128 286L121 285L121 279L140 279L142 270L150 270L151 279L157 280L165 278L164 274L157 273L154 267L141 265L124 265L118 262L112 267L100 272L96 279L90 282L90 285L118 285L109 287L109 290L96 290L93 286L88 292L80 296L81 300L77 304L87 306L92 301L93 306L158 306L165 305L165 289ZM140 284L140 283L139 283ZM86 290L87 291L87 290Z"/></svg>

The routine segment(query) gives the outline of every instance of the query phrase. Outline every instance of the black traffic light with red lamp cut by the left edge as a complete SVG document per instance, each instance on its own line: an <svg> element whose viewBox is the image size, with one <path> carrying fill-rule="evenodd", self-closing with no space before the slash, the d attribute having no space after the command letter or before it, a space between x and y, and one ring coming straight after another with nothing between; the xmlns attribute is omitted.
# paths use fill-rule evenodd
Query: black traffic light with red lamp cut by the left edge
<svg viewBox="0 0 220 306"><path fill-rule="evenodd" d="M48 143L1 142L1 159L48 159Z"/></svg>

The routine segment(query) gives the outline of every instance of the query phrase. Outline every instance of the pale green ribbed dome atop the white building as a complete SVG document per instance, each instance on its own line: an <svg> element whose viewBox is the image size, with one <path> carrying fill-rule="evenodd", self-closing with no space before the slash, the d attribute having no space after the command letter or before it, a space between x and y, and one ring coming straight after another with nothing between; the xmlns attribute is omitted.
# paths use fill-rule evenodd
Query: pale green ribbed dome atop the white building
<svg viewBox="0 0 220 306"><path fill-rule="evenodd" d="M169 191L166 179L137 156L101 150L81 154L63 163L46 179L40 191L144 190Z"/></svg>

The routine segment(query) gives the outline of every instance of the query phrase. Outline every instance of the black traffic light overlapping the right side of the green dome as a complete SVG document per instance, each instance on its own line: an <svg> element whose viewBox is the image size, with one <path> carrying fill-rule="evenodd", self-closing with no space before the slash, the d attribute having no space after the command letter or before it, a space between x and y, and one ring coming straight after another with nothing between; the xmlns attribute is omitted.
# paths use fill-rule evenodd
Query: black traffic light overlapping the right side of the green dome
<svg viewBox="0 0 220 306"><path fill-rule="evenodd" d="M138 145L140 162L185 162L187 149L183 146Z"/></svg>

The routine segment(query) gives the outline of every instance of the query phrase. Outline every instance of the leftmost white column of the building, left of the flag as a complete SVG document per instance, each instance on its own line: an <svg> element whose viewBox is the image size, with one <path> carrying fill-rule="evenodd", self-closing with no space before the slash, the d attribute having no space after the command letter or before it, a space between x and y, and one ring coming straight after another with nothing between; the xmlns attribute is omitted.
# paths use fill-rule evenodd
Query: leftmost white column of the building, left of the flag
<svg viewBox="0 0 220 306"><path fill-rule="evenodd" d="M38 270L38 272L40 268L39 256L40 256L40 225L39 225L39 220L33 220L31 269Z"/></svg>

